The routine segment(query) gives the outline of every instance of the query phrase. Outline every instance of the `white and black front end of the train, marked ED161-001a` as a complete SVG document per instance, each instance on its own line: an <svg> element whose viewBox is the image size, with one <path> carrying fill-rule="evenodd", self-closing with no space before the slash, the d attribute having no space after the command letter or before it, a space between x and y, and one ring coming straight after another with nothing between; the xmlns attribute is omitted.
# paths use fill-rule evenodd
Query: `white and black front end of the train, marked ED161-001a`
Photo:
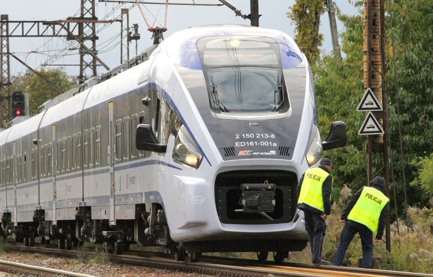
<svg viewBox="0 0 433 277"><path fill-rule="evenodd" d="M167 152L186 165L171 174L176 205L165 203L172 239L197 253L301 251L296 186L324 148L305 56L280 31L235 25L191 28L160 47L181 84L165 92L182 122Z"/></svg>

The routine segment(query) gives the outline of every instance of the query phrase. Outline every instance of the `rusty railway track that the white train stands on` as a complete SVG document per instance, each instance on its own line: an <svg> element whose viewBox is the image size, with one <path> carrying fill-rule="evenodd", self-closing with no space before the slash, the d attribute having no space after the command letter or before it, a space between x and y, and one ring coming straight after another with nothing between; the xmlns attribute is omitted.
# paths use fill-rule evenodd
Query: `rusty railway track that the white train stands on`
<svg viewBox="0 0 433 277"><path fill-rule="evenodd" d="M22 247L10 245L11 251L25 251L47 255L61 255L77 257L80 251L58 250L52 248ZM150 268L159 268L178 272L190 272L218 276L245 276L245 277L279 277L279 276L347 276L347 277L433 277L433 274L412 273L402 271L363 269L338 266L312 266L310 264L283 262L279 265L272 261L259 263L257 260L222 258L203 256L200 262L191 263L188 261L178 262L170 254L161 252L130 251L125 255L108 255L113 263L123 263ZM77 273L78 274L78 273ZM49 275L47 275L49 276ZM65 275L65 276L89 276L89 275Z"/></svg>

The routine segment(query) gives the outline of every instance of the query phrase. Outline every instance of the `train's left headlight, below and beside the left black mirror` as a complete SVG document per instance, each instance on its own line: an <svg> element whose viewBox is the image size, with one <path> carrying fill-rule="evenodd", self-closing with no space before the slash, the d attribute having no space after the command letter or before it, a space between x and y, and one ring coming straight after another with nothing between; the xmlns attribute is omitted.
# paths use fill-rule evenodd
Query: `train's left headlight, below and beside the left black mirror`
<svg viewBox="0 0 433 277"><path fill-rule="evenodd" d="M184 125L179 128L174 142L173 160L198 168L203 155L188 133Z"/></svg>

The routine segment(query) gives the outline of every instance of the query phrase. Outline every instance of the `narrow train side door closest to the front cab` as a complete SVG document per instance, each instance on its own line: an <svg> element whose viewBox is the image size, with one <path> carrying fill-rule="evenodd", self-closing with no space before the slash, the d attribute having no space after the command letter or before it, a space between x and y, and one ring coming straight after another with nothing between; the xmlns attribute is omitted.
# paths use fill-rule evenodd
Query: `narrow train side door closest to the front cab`
<svg viewBox="0 0 433 277"><path fill-rule="evenodd" d="M109 151L108 151L108 164L110 165L110 225L115 225L114 221L114 116L113 116L114 102L108 102L108 121L109 121Z"/></svg>

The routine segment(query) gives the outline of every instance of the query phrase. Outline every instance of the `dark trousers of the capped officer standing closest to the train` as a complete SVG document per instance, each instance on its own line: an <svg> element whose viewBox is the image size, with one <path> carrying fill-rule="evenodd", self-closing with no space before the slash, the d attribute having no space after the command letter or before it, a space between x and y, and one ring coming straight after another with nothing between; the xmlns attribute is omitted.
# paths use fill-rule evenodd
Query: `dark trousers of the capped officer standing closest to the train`
<svg viewBox="0 0 433 277"><path fill-rule="evenodd" d="M322 244L325 237L326 223L320 214L304 210L305 229L310 238L312 262L318 263L322 259Z"/></svg>

